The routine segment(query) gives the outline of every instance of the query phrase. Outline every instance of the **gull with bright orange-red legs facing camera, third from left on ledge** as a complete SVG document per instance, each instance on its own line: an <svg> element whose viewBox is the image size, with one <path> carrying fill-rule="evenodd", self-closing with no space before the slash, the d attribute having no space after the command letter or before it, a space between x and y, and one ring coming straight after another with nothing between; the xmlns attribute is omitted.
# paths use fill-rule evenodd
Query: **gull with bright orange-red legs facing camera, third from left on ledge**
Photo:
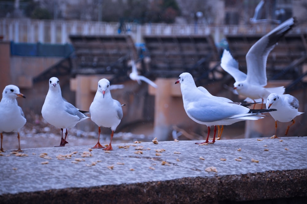
<svg viewBox="0 0 307 204"><path fill-rule="evenodd" d="M100 127L106 127L112 130L111 141L108 147L103 150L113 150L111 145L112 138L122 119L122 106L118 100L112 98L109 80L99 80L96 95L90 106L91 120L98 125L98 142L92 148L103 148L99 143Z"/></svg>

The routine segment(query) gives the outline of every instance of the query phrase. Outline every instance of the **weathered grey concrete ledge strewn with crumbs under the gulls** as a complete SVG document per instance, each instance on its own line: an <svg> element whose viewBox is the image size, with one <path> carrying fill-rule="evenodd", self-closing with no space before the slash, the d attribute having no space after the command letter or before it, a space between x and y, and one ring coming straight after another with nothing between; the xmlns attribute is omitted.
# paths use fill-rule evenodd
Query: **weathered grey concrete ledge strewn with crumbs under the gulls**
<svg viewBox="0 0 307 204"><path fill-rule="evenodd" d="M0 200L197 203L306 197L307 137L259 139L220 140L207 146L195 141L115 144L110 153L93 149L89 157L82 153L91 146L24 149L28 156L22 157L6 151L0 156ZM159 149L165 151L155 151ZM41 153L47 153L45 158ZM71 159L56 158L67 154ZM77 158L84 161L72 163ZM207 167L217 172L207 172Z"/></svg>

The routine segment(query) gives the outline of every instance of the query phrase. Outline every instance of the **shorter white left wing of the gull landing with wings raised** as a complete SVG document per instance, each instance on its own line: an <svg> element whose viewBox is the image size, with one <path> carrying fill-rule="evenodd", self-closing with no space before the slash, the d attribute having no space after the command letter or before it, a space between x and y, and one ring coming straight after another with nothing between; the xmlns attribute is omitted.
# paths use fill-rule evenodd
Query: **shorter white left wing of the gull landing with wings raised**
<svg viewBox="0 0 307 204"><path fill-rule="evenodd" d="M231 56L230 52L224 49L223 56L221 59L221 67L230 74L235 81L244 81L246 74L239 70L238 62Z"/></svg>

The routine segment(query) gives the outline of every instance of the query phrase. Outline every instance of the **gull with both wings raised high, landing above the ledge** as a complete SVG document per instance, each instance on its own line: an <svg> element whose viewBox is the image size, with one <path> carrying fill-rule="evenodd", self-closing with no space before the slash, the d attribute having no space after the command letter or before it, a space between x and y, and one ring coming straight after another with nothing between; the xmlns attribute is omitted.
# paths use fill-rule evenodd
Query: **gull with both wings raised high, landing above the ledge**
<svg viewBox="0 0 307 204"><path fill-rule="evenodd" d="M256 102L256 99L261 99L263 105L263 99L266 99L270 93L283 94L285 92L283 86L264 88L267 84L266 60L278 40L284 36L293 25L294 18L286 20L270 33L260 38L260 40L249 49L246 55L247 74L239 70L238 62L231 56L229 51L223 51L221 67L235 79L234 89L240 95L248 97L245 99L246 101L251 99Z"/></svg>

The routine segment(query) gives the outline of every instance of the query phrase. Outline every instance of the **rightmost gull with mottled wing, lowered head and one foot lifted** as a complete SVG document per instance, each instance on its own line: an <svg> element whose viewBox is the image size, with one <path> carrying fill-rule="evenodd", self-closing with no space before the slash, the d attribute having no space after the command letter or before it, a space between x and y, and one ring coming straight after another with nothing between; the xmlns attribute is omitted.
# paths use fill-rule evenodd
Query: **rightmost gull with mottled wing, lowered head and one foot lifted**
<svg viewBox="0 0 307 204"><path fill-rule="evenodd" d="M299 102L297 98L290 94L278 95L277 93L271 93L266 101L266 108L274 108L277 111L270 112L271 116L275 120L275 137L277 130L277 120L280 122L289 122L292 121L292 124L288 126L285 135L288 134L290 126L292 126L295 121L296 116L301 115L303 112L298 112Z"/></svg>

